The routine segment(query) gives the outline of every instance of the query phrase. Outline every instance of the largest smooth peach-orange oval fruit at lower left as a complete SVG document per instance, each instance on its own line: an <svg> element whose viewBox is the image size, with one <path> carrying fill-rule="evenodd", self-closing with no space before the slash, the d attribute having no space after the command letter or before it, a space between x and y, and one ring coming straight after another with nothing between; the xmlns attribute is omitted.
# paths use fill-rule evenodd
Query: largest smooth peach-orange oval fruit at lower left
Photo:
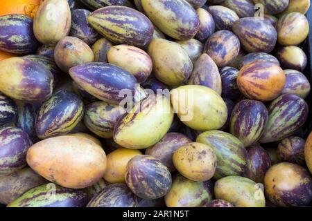
<svg viewBox="0 0 312 221"><path fill-rule="evenodd" d="M60 136L31 146L27 163L46 180L71 189L83 189L101 180L106 155L101 146L89 139Z"/></svg>

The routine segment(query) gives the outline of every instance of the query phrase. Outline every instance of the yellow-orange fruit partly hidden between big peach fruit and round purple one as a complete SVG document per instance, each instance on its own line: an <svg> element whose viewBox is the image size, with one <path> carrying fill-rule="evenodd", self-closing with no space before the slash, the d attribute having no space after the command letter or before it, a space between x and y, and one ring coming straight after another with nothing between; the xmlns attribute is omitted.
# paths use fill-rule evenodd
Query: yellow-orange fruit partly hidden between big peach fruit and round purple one
<svg viewBox="0 0 312 221"><path fill-rule="evenodd" d="M120 148L107 155L106 171L104 179L111 184L124 183L128 162L135 156L142 155L138 150Z"/></svg>

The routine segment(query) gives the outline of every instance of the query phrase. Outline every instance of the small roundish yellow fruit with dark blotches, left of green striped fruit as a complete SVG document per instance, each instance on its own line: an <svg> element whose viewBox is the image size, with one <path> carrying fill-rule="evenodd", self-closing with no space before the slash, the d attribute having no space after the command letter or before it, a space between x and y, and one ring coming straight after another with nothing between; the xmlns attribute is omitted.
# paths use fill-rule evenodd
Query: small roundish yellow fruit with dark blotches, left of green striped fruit
<svg viewBox="0 0 312 221"><path fill-rule="evenodd" d="M206 144L189 143L173 154L173 164L184 177L193 181L207 181L216 171L216 154Z"/></svg>

